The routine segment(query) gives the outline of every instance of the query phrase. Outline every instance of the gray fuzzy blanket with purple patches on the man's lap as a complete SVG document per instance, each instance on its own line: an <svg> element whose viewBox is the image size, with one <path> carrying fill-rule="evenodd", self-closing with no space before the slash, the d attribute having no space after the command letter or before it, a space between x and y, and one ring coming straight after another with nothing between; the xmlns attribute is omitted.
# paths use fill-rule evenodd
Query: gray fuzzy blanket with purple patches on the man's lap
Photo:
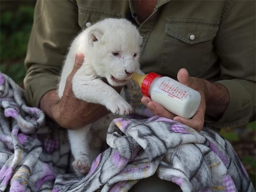
<svg viewBox="0 0 256 192"><path fill-rule="evenodd" d="M2 73L0 107L0 192L123 192L154 173L183 192L255 191L230 143L209 128L198 133L159 116L114 119L110 147L78 177L67 172L66 131L28 107L23 90Z"/></svg>

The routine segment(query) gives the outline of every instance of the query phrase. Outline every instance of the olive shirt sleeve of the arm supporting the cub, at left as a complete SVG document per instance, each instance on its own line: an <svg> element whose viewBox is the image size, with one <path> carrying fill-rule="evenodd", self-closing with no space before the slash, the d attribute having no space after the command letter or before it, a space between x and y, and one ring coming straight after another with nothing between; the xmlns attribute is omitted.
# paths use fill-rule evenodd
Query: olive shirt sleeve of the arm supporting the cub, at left
<svg viewBox="0 0 256 192"><path fill-rule="evenodd" d="M39 107L43 95L57 88L68 47L80 30L76 2L36 2L25 58L24 88L29 105Z"/></svg>

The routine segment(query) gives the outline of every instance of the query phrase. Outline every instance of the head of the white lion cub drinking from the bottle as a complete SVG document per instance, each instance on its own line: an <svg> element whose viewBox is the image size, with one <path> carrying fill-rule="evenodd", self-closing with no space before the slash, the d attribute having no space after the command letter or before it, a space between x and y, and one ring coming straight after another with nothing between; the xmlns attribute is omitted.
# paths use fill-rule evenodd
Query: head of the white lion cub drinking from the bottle
<svg viewBox="0 0 256 192"><path fill-rule="evenodd" d="M139 68L142 36L126 19L105 19L90 27L88 57L97 75L122 86Z"/></svg>

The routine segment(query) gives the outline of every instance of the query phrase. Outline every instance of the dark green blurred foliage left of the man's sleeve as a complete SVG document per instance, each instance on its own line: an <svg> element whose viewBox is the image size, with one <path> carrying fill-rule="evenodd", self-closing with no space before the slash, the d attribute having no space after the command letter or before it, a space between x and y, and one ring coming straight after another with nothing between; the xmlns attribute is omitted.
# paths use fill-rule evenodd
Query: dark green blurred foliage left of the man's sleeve
<svg viewBox="0 0 256 192"><path fill-rule="evenodd" d="M20 6L17 11L1 12L0 63L2 73L22 86L26 73L24 58L33 24L33 6Z"/></svg>

